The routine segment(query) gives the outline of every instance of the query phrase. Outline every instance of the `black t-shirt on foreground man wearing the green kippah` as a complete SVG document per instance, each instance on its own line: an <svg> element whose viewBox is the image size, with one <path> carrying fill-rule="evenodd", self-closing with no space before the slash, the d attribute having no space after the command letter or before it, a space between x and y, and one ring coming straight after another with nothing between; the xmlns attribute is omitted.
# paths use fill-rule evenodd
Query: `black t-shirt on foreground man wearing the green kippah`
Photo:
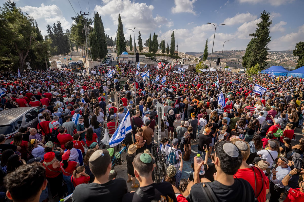
<svg viewBox="0 0 304 202"><path fill-rule="evenodd" d="M153 183L148 186L140 187L145 196L151 201L165 201L177 202L172 185L168 182ZM115 201L115 200L112 200ZM135 194L135 192L127 193L123 196L122 202L146 202L143 197Z"/></svg>

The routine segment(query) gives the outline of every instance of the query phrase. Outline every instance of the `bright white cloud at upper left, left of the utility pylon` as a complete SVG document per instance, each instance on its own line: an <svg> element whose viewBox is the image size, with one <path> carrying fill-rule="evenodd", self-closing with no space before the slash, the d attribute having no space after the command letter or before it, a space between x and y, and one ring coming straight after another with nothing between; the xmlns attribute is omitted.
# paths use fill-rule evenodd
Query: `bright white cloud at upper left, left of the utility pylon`
<svg viewBox="0 0 304 202"><path fill-rule="evenodd" d="M63 12L60 10L60 8L57 5L41 4L40 7L24 6L21 7L21 10L32 16L37 21L38 27L43 36L47 35L47 31L46 31L47 24L49 25L53 25L54 23L56 24L58 20L60 21L61 26L64 29L71 28L71 22L68 22L63 17Z"/></svg>

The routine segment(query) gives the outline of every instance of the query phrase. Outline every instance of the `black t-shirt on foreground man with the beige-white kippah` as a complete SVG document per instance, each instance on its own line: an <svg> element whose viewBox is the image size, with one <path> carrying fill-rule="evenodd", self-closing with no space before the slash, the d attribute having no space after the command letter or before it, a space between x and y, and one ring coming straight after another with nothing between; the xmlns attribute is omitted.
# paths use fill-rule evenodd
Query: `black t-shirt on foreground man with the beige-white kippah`
<svg viewBox="0 0 304 202"><path fill-rule="evenodd" d="M121 201L128 192L126 180L117 178L105 184L79 184L73 192L73 202Z"/></svg>

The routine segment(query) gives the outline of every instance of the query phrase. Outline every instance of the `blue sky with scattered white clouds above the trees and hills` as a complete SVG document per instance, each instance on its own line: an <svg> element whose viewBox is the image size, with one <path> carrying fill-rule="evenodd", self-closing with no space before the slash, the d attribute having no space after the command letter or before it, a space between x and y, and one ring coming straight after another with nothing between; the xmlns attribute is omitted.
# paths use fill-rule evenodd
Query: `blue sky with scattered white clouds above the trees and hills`
<svg viewBox="0 0 304 202"><path fill-rule="evenodd" d="M5 0L0 0L2 5ZM47 24L59 20L64 29L70 29L71 17L76 13L89 12L102 18L105 34L116 36L118 15L121 15L126 39L135 28L136 44L140 31L143 42L155 32L158 42L171 42L174 31L175 44L181 52L203 52L208 39L208 51L245 50L261 21L265 10L271 15L271 51L293 50L296 43L304 40L302 8L304 0L15 0L16 6L36 19L42 35ZM70 4L71 3L71 4ZM134 41L133 41L134 43Z"/></svg>

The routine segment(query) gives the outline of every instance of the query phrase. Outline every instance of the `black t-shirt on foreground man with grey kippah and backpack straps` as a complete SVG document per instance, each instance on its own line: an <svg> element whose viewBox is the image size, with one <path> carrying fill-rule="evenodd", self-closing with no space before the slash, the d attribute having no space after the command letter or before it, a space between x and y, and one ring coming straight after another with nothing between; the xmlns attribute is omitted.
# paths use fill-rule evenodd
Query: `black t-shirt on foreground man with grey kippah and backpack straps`
<svg viewBox="0 0 304 202"><path fill-rule="evenodd" d="M240 182L240 180L243 181L244 184L247 184L250 190L247 190L246 187L243 186L243 184ZM255 197L254 197L254 191L246 180L243 179L235 179L233 185L231 186L226 186L218 181L214 182L207 182L205 184L208 184L214 194L216 195L216 198L218 201L221 202L231 202L231 201L243 201L243 194L246 194L247 200L246 202L254 202ZM200 201L207 201L206 197L202 191L202 187L199 183L194 184L191 187L191 191L189 196L187 197L187 200L189 202L200 202Z"/></svg>

